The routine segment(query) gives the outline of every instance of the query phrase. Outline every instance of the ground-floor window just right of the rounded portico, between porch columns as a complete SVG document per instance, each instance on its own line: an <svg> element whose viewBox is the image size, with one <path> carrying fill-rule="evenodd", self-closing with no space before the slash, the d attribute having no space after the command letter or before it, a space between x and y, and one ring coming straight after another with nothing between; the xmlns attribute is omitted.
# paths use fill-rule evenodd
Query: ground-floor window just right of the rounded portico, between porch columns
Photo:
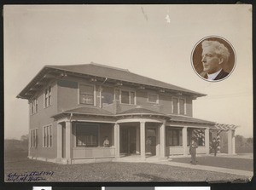
<svg viewBox="0 0 256 190"><path fill-rule="evenodd" d="M166 146L182 146L183 131L179 128L167 128L166 130Z"/></svg>

